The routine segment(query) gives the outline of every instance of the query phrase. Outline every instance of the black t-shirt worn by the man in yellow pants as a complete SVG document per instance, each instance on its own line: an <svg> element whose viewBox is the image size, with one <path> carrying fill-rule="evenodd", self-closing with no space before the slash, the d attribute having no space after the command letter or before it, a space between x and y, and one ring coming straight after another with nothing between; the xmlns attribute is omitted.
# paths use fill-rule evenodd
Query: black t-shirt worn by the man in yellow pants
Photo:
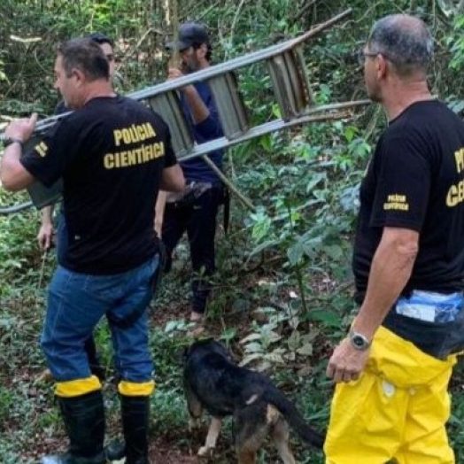
<svg viewBox="0 0 464 464"><path fill-rule="evenodd" d="M452 292L464 274L464 124L435 100L411 104L381 136L360 189L353 254L358 300L384 227L420 233L403 291Z"/></svg>

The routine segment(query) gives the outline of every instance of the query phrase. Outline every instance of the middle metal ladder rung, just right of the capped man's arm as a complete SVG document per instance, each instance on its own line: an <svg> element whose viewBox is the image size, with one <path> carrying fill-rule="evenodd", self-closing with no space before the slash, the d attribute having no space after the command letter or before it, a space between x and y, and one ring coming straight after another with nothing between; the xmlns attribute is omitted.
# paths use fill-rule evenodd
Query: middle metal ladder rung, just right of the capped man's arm
<svg viewBox="0 0 464 464"><path fill-rule="evenodd" d="M224 135L229 140L243 135L249 128L248 116L238 89L236 74L224 73L207 82L213 92Z"/></svg>

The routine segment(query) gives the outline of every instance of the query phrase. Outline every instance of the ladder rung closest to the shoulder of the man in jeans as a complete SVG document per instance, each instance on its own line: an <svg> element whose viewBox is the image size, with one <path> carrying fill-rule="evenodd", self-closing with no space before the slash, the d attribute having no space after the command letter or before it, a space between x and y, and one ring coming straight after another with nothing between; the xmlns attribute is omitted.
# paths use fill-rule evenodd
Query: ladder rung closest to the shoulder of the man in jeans
<svg viewBox="0 0 464 464"><path fill-rule="evenodd" d="M158 112L171 131L173 149L178 157L185 156L194 145L189 124L182 112L182 105L175 90L147 99L154 112Z"/></svg>

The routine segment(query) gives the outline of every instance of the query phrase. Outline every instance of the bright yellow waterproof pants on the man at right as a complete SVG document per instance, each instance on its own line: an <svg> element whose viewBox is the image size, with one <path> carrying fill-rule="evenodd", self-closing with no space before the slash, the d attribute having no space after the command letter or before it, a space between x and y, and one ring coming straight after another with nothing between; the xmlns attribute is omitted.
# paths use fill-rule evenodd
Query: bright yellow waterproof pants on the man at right
<svg viewBox="0 0 464 464"><path fill-rule="evenodd" d="M326 464L454 464L445 422L455 363L379 328L360 378L336 385Z"/></svg>

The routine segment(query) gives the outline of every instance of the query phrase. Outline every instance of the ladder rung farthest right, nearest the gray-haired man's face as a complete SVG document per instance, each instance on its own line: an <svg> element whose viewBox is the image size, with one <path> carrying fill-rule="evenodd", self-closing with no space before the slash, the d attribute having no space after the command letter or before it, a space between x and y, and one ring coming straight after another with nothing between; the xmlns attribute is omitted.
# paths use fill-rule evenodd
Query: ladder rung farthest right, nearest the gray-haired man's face
<svg viewBox="0 0 464 464"><path fill-rule="evenodd" d="M275 99L281 109L282 119L297 118L312 101L303 54L300 50L286 50L267 59L267 68L271 74Z"/></svg>

